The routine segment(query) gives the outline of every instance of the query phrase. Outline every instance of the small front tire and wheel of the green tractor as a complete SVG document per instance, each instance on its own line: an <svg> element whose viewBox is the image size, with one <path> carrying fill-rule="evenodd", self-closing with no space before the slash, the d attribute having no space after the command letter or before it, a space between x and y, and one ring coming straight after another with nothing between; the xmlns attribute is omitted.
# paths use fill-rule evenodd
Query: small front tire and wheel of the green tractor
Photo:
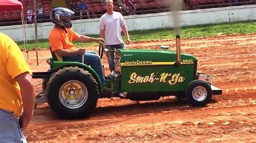
<svg viewBox="0 0 256 143"><path fill-rule="evenodd" d="M212 89L210 85L202 80L192 81L187 86L186 99L192 106L204 106L212 98Z"/></svg>

